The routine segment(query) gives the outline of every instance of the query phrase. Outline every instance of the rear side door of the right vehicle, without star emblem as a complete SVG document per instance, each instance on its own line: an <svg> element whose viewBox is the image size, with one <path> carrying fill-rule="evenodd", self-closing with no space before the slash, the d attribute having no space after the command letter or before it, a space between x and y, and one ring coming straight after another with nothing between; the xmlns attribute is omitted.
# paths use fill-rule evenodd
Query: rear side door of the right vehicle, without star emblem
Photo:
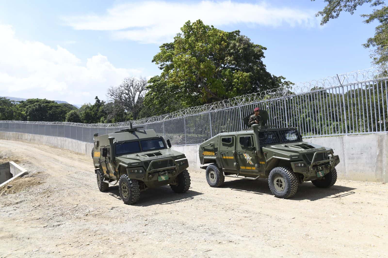
<svg viewBox="0 0 388 258"><path fill-rule="evenodd" d="M237 173L236 136L222 136L219 152L224 171Z"/></svg>

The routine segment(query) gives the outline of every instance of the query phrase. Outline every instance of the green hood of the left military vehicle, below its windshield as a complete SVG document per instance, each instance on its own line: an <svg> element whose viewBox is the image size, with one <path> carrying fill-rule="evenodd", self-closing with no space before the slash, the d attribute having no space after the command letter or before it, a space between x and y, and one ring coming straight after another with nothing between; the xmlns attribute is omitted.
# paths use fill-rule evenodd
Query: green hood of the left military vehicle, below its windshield
<svg viewBox="0 0 388 258"><path fill-rule="evenodd" d="M136 161L152 161L155 159L165 159L169 157L174 157L174 159L180 159L179 156L182 156L183 158L184 154L176 150L163 149L116 156L116 161L131 163Z"/></svg>

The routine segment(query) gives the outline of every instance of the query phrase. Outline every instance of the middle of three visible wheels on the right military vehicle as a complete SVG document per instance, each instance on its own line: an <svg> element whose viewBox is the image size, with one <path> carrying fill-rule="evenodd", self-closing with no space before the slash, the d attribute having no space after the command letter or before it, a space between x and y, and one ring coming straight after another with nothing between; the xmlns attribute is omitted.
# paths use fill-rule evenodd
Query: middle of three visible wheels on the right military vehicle
<svg viewBox="0 0 388 258"><path fill-rule="evenodd" d="M275 167L268 176L268 185L277 198L290 198L298 190L298 178L287 167Z"/></svg>

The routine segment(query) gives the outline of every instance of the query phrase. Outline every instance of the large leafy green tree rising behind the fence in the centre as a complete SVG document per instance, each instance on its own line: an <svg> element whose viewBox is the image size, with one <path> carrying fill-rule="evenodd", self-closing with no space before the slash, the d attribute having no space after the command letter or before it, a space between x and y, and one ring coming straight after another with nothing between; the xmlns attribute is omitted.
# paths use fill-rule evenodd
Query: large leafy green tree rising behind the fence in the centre
<svg viewBox="0 0 388 258"><path fill-rule="evenodd" d="M152 60L163 70L165 92L180 99L179 105L211 103L291 84L267 71L262 60L267 48L240 31L222 31L201 20L187 21L181 31L174 42L161 45ZM150 83L158 84L150 90L161 86ZM156 93L148 96L152 94Z"/></svg>

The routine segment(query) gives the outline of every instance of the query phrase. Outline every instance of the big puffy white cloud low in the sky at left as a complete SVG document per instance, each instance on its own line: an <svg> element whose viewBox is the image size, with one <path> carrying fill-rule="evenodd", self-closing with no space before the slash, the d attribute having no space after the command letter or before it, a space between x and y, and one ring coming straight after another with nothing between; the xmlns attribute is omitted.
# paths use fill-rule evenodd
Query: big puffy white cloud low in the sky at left
<svg viewBox="0 0 388 258"><path fill-rule="evenodd" d="M0 24L0 96L39 97L69 103L105 98L107 87L139 69L117 68L100 53L86 64L65 48L16 38L11 26Z"/></svg>

